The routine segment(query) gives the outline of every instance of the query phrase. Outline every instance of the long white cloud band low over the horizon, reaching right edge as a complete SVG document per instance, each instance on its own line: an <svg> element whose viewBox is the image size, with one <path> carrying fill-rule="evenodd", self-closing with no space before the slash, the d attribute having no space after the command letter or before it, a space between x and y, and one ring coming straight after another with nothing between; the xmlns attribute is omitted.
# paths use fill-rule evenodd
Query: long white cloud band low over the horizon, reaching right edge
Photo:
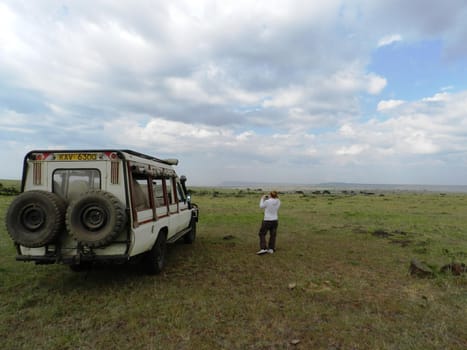
<svg viewBox="0 0 467 350"><path fill-rule="evenodd" d="M139 122L138 118L122 118L105 124L104 128L108 134L115 135L114 143L170 154L248 155L258 161L279 154L287 154L290 159L312 157L325 160L335 155L373 162L383 156L405 158L437 154L442 159L450 152L467 152L462 137L467 131L467 121L462 115L466 93L443 95L442 102L435 96L405 103L389 101L391 108L384 109L389 118L343 124L336 132L322 134L290 128L264 136L254 130L142 117ZM436 110L429 109L433 100L441 103ZM329 147L330 144L334 146Z"/></svg>

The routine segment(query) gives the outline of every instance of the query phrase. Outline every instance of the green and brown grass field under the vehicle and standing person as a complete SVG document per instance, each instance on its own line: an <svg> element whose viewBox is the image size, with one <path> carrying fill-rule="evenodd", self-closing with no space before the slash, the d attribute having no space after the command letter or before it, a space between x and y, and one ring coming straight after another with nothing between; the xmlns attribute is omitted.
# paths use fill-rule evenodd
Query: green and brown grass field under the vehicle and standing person
<svg viewBox="0 0 467 350"><path fill-rule="evenodd" d="M437 272L467 263L467 195L283 194L277 253L257 256L259 195L196 191L197 240L159 276L16 262L2 225L2 349L467 348L467 275Z"/></svg>

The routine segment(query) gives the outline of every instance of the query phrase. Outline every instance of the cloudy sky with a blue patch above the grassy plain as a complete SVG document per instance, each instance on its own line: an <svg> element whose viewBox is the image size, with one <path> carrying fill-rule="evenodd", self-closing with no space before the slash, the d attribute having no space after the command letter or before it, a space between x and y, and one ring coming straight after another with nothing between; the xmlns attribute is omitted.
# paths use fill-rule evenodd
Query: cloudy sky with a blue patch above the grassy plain
<svg viewBox="0 0 467 350"><path fill-rule="evenodd" d="M33 149L192 185L467 185L464 0L0 0L0 179Z"/></svg>

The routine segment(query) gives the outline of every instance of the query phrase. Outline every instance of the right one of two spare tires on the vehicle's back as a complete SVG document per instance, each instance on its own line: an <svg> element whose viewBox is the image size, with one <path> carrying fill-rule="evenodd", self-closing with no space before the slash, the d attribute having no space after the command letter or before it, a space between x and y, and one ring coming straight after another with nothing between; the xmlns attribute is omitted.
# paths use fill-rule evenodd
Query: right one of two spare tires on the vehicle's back
<svg viewBox="0 0 467 350"><path fill-rule="evenodd" d="M113 194L101 190L83 193L66 211L68 233L88 247L110 244L125 224L125 207Z"/></svg>

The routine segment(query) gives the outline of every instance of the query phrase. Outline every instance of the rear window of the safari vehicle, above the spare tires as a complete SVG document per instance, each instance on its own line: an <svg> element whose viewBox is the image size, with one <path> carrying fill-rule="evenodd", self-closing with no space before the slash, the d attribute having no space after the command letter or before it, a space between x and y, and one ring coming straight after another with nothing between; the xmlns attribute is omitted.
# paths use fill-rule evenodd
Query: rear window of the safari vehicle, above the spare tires
<svg viewBox="0 0 467 350"><path fill-rule="evenodd" d="M100 188L101 176L97 169L57 169L53 173L52 191L66 199Z"/></svg>

